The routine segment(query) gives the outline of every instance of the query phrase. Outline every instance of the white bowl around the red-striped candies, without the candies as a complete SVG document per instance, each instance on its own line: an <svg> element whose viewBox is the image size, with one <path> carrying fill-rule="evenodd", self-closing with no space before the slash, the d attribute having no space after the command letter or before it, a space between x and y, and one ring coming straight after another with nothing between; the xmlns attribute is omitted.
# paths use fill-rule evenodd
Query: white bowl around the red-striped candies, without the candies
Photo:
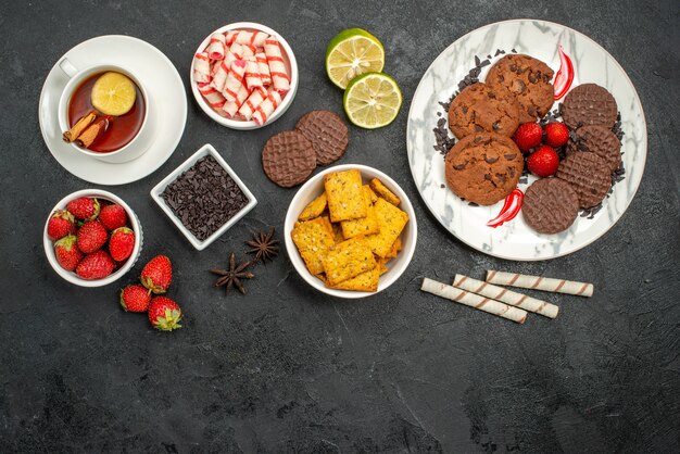
<svg viewBox="0 0 680 454"><path fill-rule="evenodd" d="M201 42L201 45L196 50L194 54L202 52L205 49L205 47L210 42L210 37L214 33L225 33L228 30L237 30L237 29L260 30L268 35L274 35L281 45L281 48L282 48L281 53L284 54L284 64L286 64L290 74L290 90L286 93L286 96L284 97L281 101L281 104L278 108L276 108L276 110L274 111L274 113L272 113L272 115L267 118L267 121L263 125L257 125L252 119L251 121L229 119L219 115L217 112L215 112L213 108L211 108L210 104L205 102L205 99L199 91L198 84L193 80L193 60L191 61L191 68L189 70L189 83L191 85L191 91L193 92L193 98L196 99L196 102L198 102L198 104L201 106L203 112L205 112L205 114L210 116L211 118L213 118L215 122L219 123L222 126L226 126L232 129L241 129L241 130L259 129L276 122L277 118L284 115L284 113L288 110L288 108L292 103L293 98L295 98L295 93L298 92L298 62L295 61L295 55L292 49L290 48L290 46L288 45L288 41L286 41L286 39L284 39L282 36L277 34L272 28L262 24L254 23L254 22L236 22L234 24L225 25L224 27L217 28L216 30L212 31L210 35L205 37L205 39Z"/></svg>

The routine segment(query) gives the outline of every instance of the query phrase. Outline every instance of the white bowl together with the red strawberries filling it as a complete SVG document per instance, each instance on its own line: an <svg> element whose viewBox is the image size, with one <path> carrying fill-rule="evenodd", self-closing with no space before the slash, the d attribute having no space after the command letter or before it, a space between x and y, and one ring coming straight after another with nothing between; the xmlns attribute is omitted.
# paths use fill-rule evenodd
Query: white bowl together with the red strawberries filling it
<svg viewBox="0 0 680 454"><path fill-rule="evenodd" d="M135 212L117 196L99 189L63 198L50 212L42 237L54 272L80 287L106 286L121 278L137 262L142 244Z"/></svg>

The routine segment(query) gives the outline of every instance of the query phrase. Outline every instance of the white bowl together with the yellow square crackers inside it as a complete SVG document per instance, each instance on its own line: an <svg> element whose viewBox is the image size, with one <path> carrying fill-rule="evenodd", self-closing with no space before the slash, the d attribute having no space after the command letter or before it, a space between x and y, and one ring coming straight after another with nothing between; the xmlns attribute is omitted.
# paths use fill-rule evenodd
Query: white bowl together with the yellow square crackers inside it
<svg viewBox="0 0 680 454"><path fill-rule="evenodd" d="M295 270L332 297L370 297L404 273L417 224L403 189L360 164L329 167L305 182L286 214L286 249Z"/></svg>

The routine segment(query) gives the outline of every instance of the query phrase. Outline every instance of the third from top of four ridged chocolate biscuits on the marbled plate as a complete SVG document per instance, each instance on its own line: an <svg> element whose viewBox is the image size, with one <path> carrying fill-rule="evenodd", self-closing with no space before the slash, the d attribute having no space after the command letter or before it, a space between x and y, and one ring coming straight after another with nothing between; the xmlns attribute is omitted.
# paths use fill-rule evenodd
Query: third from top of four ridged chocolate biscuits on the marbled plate
<svg viewBox="0 0 680 454"><path fill-rule="evenodd" d="M557 178L571 185L582 209L590 209L602 202L612 187L609 166L595 153L569 154L559 163Z"/></svg>

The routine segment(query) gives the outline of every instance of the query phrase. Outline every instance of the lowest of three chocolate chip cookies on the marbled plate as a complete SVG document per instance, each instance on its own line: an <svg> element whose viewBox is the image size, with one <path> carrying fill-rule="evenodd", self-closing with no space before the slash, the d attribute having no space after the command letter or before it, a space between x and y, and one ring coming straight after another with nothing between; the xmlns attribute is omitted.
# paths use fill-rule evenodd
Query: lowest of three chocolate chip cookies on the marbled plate
<svg viewBox="0 0 680 454"><path fill-rule="evenodd" d="M492 205L517 187L524 165L521 152L511 138L470 134L446 154L446 184L465 200Z"/></svg>

